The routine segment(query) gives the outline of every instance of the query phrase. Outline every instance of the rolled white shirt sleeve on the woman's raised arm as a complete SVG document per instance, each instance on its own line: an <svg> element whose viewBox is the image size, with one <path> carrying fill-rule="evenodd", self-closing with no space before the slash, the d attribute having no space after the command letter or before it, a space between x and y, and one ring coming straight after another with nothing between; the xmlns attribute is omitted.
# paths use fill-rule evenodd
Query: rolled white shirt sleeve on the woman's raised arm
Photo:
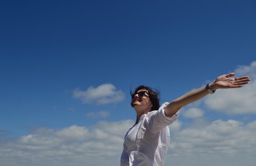
<svg viewBox="0 0 256 166"><path fill-rule="evenodd" d="M177 111L172 117L167 117L165 115L164 108L168 104L168 102L165 102L158 111L151 111L147 113L146 119L144 120L144 127L146 129L149 129L151 132L158 132L172 124L178 118L179 111Z"/></svg>

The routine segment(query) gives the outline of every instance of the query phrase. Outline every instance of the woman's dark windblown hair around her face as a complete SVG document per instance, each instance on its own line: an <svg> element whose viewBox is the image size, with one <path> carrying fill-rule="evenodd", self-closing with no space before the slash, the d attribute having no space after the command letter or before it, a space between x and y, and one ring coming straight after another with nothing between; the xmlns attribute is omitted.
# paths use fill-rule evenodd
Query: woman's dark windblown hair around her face
<svg viewBox="0 0 256 166"><path fill-rule="evenodd" d="M151 108L151 111L154 111L154 110L158 110L160 108L160 104L159 104L159 94L160 92L156 89L152 89L151 87L148 87L148 86L145 86L145 85L140 85L138 86L134 92L132 92L132 90L130 90L130 94L132 96L132 99L131 99L131 106L133 107L133 94L138 92L139 90L141 89L145 89L149 92L149 99L150 101L152 102L153 106Z"/></svg>

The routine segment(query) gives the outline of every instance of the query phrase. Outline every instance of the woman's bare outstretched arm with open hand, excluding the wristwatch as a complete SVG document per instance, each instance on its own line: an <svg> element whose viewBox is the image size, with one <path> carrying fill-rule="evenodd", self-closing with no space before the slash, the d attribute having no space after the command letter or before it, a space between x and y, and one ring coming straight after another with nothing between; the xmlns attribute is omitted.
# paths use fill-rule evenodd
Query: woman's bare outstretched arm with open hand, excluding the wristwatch
<svg viewBox="0 0 256 166"><path fill-rule="evenodd" d="M230 78L233 76L235 76L235 73L224 74L217 77L214 82L209 83L211 90L215 91L216 89L240 88L242 87L243 84L246 84L248 83L248 81L251 81L248 76ZM188 92L183 96L170 102L165 107L164 113L167 117L172 117L183 106L194 101L197 101L206 96L207 94L209 94L209 92L205 89L205 86L194 91Z"/></svg>

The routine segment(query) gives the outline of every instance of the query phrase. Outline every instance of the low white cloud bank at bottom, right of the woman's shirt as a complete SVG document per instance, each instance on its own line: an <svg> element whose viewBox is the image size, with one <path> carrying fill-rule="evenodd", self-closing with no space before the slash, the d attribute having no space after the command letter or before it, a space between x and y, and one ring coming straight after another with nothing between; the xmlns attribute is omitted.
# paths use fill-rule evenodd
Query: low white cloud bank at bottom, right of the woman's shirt
<svg viewBox="0 0 256 166"><path fill-rule="evenodd" d="M189 163L190 166L239 166L244 163L254 166L255 127L256 121L244 125L236 120L215 120L205 126L174 132L166 163L177 166Z"/></svg>

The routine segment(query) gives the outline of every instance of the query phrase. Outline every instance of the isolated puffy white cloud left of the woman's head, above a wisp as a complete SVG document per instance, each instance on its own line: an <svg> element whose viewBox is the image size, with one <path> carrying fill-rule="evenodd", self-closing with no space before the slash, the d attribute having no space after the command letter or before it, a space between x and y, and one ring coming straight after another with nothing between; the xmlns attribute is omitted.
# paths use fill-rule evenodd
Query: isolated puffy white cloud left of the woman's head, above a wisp
<svg viewBox="0 0 256 166"><path fill-rule="evenodd" d="M80 99L82 103L108 104L124 100L124 93L116 88L113 84L106 83L96 88L89 87L87 91L81 91L78 88L73 90L73 97Z"/></svg>

